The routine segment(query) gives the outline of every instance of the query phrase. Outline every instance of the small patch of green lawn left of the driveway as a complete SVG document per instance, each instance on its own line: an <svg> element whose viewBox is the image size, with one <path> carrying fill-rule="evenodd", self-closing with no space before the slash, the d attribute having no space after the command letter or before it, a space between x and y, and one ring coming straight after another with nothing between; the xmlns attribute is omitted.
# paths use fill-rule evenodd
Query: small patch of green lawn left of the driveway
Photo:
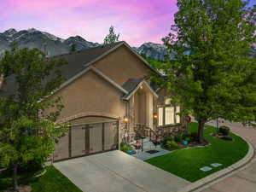
<svg viewBox="0 0 256 192"><path fill-rule="evenodd" d="M55 169L54 166L46 167L47 172L44 176L32 178L32 174L27 174L20 178L21 183L29 183L32 186L32 192L82 192L67 177ZM0 174L0 191L11 185L11 177L3 177Z"/></svg>

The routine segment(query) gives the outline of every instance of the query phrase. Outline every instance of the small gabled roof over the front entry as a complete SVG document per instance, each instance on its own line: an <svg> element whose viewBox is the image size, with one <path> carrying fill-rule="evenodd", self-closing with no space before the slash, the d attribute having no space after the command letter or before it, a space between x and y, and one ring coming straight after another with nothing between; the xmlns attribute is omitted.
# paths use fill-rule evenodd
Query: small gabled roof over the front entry
<svg viewBox="0 0 256 192"><path fill-rule="evenodd" d="M145 79L128 79L122 87L128 91L128 93L122 97L123 100L129 100L133 94L142 86L146 85L148 90L151 91L153 96L158 97L157 93L152 89Z"/></svg>

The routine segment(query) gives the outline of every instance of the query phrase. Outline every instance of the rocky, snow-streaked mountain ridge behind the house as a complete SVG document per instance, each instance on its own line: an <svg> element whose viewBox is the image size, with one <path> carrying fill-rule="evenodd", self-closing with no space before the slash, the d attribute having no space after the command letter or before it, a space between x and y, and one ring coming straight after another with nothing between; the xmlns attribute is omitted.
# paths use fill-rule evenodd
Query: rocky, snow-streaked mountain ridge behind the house
<svg viewBox="0 0 256 192"><path fill-rule="evenodd" d="M0 55L3 55L5 50L10 49L10 44L12 43L17 43L20 48L41 49L49 56L69 53L69 48L72 44L75 44L78 50L90 49L101 45L87 41L79 35L63 39L35 28L20 31L10 28L5 32L0 32ZM139 47L133 47L133 49L141 55L146 55L149 58L160 61L164 59L164 55L168 55L164 45L152 42L144 43Z"/></svg>

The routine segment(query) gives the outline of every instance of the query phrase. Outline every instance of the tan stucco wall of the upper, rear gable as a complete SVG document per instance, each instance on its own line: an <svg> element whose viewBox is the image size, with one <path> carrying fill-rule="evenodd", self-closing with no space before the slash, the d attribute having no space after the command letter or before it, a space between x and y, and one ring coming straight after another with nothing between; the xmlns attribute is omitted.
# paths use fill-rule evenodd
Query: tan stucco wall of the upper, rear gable
<svg viewBox="0 0 256 192"><path fill-rule="evenodd" d="M150 74L150 69L125 45L96 61L94 66L119 85L128 79L140 79Z"/></svg>

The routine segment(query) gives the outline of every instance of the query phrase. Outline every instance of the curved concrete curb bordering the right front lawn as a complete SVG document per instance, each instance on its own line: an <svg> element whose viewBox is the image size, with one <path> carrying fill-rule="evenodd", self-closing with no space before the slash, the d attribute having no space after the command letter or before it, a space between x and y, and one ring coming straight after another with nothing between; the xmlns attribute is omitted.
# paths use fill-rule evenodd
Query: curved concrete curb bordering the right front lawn
<svg viewBox="0 0 256 192"><path fill-rule="evenodd" d="M237 135L236 133L232 132L238 137L241 137ZM177 192L200 192L204 189L209 188L214 183L218 183L226 177L230 177L233 174L236 174L236 172L240 172L242 169L245 169L247 166L250 166L254 160L253 156L255 155L255 150L253 148L253 145L247 141L246 138L241 137L243 140L245 140L249 146L248 152L245 155L244 158L237 161L235 164L228 166L227 168L220 170L218 172L214 172L211 175L207 177L203 177L200 180L196 181L195 183L191 183L188 186L186 186L183 189L178 190Z"/></svg>

